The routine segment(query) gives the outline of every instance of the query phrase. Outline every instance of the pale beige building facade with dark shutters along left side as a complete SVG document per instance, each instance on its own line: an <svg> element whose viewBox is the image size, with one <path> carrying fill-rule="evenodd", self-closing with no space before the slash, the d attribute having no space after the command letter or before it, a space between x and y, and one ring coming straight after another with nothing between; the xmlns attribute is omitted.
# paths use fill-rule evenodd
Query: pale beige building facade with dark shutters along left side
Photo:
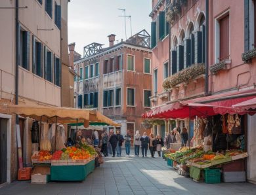
<svg viewBox="0 0 256 195"><path fill-rule="evenodd" d="M66 55L61 46L67 43L67 36L62 37L61 29L66 24L68 0L0 2L0 7L16 6L19 9L1 9L0 12L0 184L16 179L18 171L15 115L7 109L7 105L15 103L16 56L18 103L59 107L61 61ZM18 10L17 28L15 10ZM62 43L61 38L64 39ZM68 50L68 44L65 50ZM20 118L24 166L31 164L31 126L32 120Z"/></svg>

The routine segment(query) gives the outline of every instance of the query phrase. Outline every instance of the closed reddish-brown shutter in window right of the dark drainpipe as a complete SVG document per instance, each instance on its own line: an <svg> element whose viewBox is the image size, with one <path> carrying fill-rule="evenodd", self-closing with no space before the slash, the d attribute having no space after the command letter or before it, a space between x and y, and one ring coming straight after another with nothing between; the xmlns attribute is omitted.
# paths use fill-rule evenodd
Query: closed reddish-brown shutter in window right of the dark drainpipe
<svg viewBox="0 0 256 195"><path fill-rule="evenodd" d="M220 61L229 58L229 15L219 20L220 27Z"/></svg>

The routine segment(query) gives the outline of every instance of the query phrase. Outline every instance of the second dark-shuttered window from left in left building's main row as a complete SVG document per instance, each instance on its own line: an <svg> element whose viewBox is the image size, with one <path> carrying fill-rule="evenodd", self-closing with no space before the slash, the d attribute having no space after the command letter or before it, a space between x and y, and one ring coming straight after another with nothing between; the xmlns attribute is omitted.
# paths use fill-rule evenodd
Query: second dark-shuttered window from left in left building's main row
<svg viewBox="0 0 256 195"><path fill-rule="evenodd" d="M32 37L33 42L33 73L43 77L43 44Z"/></svg>

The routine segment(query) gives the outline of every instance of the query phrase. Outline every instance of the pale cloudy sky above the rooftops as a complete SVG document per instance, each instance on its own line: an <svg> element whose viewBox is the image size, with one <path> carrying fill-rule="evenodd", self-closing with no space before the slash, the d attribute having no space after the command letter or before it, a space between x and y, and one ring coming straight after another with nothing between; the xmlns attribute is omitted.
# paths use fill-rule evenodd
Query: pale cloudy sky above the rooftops
<svg viewBox="0 0 256 195"><path fill-rule="evenodd" d="M132 33L146 29L150 33L151 0L71 0L68 3L68 43L75 42L75 51L83 56L83 47L93 42L109 46L108 35L125 40L125 22L122 10L131 16ZM126 19L127 39L131 24ZM117 41L115 42L115 44Z"/></svg>

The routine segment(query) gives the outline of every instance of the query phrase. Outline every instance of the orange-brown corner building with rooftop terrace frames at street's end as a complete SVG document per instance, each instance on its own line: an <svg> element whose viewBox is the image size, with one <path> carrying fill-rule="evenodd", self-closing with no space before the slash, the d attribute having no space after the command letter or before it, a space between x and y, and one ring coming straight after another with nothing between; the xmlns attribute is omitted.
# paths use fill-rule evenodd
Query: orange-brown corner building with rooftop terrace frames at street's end
<svg viewBox="0 0 256 195"><path fill-rule="evenodd" d="M142 113L150 109L152 67L150 36L140 31L127 41L110 46L92 43L85 46L84 58L74 62L75 104L79 108L95 108L121 124L121 133L146 131ZM109 127L108 130L114 129ZM116 130L116 128L114 129Z"/></svg>

